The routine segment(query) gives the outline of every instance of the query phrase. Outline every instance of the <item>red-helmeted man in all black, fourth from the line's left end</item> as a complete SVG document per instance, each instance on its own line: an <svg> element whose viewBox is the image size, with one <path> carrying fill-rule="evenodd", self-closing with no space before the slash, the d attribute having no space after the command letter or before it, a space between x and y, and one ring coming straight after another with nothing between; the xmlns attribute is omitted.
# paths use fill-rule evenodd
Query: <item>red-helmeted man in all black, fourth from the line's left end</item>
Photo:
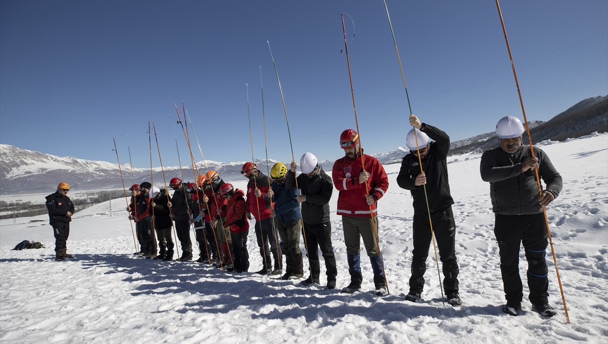
<svg viewBox="0 0 608 344"><path fill-rule="evenodd" d="M171 179L169 186L174 190L171 202L167 203L167 206L171 208L169 216L175 222L175 231L178 233L179 243L182 246L182 256L179 260L192 260L192 239L190 239L190 222L188 222L192 211L188 207L189 196L181 179Z"/></svg>

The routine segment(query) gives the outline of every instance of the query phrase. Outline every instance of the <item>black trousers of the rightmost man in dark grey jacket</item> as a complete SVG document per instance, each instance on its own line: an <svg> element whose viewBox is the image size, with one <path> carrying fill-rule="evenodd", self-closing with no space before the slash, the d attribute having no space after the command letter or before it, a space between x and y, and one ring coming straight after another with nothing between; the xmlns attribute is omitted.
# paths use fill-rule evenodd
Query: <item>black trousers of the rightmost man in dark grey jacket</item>
<svg viewBox="0 0 608 344"><path fill-rule="evenodd" d="M534 215L496 214L494 235L500 253L500 273L507 301L521 301L522 280L519 276L519 248L523 244L528 261L528 288L531 303L547 303L549 286L547 262L547 225L542 213Z"/></svg>

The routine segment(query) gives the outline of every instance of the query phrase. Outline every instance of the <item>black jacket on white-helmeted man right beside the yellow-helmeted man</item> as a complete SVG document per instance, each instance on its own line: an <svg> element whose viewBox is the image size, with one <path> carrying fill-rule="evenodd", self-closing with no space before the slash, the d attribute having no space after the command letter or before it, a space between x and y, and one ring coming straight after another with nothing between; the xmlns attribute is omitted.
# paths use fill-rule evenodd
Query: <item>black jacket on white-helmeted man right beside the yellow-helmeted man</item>
<svg viewBox="0 0 608 344"><path fill-rule="evenodd" d="M306 195L306 202L302 203L302 222L306 224L323 224L330 221L330 199L334 190L331 177L319 166L319 173L313 179L308 179L306 174L297 176L297 187ZM285 184L290 189L295 189L295 173L287 171Z"/></svg>

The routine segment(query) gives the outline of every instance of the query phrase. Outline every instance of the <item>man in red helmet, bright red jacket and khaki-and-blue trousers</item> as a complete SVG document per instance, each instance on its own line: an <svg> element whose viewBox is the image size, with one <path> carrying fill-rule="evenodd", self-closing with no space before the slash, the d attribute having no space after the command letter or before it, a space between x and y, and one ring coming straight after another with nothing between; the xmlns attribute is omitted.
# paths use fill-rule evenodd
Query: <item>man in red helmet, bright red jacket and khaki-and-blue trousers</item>
<svg viewBox="0 0 608 344"><path fill-rule="evenodd" d="M344 243L347 249L350 284L342 292L353 293L361 289L361 238L374 271L376 294L384 294L386 283L378 244L378 218L376 202L389 188L389 178L375 157L363 154L359 134L347 129L340 136L340 147L345 156L334 163L331 177L340 191L337 215L342 215Z"/></svg>

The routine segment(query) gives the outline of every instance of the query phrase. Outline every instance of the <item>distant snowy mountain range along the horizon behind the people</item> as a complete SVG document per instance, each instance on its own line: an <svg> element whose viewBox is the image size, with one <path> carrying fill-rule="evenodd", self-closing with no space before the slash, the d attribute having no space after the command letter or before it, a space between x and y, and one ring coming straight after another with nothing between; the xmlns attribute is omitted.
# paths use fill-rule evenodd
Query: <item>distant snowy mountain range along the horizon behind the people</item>
<svg viewBox="0 0 608 344"><path fill-rule="evenodd" d="M531 121L533 142L542 140L565 140L568 137L580 137L591 132L608 131L608 95L582 100L571 108L556 115L548 122ZM450 154L480 153L496 146L494 132L486 132L469 139L452 142ZM527 141L527 137L524 137ZM371 154L383 165L401 162L406 152L395 149L389 153ZM37 193L53 190L57 181L69 180L71 187L80 190L115 190L122 188L120 171L116 163L92 161L75 157L58 157L37 151L0 144L0 192L2 194ZM266 171L266 160L255 161L261 171ZM269 165L277 160L269 159ZM207 160L207 168L218 171L226 180L239 179L244 162L215 162ZM331 171L333 161L320 162L325 171ZM204 172L202 162L198 163L199 173ZM128 164L122 165L123 171L131 171ZM154 168L153 179L163 179L161 168ZM165 167L165 179L172 177L192 176L192 169ZM135 180L149 179L150 170L133 168ZM188 178L185 178L189 180ZM190 178L192 179L192 178ZM129 182L125 182L130 184ZM129 186L129 185L127 185Z"/></svg>

